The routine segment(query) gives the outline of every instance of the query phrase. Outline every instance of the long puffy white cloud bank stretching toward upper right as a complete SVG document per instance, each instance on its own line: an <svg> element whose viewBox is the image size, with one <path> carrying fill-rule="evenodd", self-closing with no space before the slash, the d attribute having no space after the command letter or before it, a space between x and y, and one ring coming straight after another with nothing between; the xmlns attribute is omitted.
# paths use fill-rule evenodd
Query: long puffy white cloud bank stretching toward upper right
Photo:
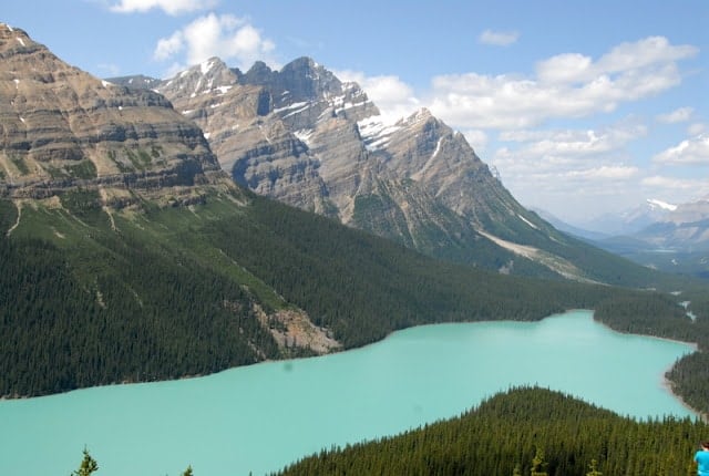
<svg viewBox="0 0 709 476"><path fill-rule="evenodd" d="M528 128L547 120L612 112L681 82L677 62L697 48L661 37L623 43L594 61L566 53L536 65L534 76L476 73L433 79L431 110L461 128Z"/></svg>

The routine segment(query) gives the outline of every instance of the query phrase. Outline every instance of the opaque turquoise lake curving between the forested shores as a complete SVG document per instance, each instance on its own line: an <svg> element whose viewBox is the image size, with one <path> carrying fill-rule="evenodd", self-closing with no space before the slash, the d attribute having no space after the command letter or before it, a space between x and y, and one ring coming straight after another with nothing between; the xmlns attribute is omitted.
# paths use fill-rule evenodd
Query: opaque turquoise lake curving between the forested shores
<svg viewBox="0 0 709 476"><path fill-rule="evenodd" d="M522 384L621 415L695 416L664 386L688 344L620 334L572 311L435 324L333 355L197 379L0 401L0 475L263 475L333 444L451 417Z"/></svg>

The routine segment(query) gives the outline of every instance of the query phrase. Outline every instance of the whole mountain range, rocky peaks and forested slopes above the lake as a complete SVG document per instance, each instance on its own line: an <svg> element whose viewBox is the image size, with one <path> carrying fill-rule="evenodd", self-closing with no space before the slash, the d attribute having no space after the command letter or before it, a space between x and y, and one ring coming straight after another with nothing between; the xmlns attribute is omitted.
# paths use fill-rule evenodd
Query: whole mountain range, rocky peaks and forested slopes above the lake
<svg viewBox="0 0 709 476"><path fill-rule="evenodd" d="M0 24L0 396L655 296L595 282L680 286L524 209L427 111L384 127L309 59L126 82Z"/></svg>

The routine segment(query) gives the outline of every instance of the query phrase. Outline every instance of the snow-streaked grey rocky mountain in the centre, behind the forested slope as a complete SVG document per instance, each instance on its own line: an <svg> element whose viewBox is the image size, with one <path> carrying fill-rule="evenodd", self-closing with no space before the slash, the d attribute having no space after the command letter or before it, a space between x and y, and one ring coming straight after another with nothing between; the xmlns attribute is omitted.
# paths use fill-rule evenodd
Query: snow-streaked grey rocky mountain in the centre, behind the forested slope
<svg viewBox="0 0 709 476"><path fill-rule="evenodd" d="M606 282L628 266L521 206L463 135L429 111L386 124L358 84L309 58L280 71L257 62L245 73L213 58L155 91L258 194L505 273Z"/></svg>

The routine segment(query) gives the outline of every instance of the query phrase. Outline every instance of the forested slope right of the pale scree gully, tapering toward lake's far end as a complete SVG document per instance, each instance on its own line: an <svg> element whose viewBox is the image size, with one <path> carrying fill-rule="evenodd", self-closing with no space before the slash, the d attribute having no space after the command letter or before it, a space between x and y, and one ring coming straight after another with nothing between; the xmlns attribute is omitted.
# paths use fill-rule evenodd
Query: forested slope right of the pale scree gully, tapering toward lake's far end
<svg viewBox="0 0 709 476"><path fill-rule="evenodd" d="M443 262L263 198L248 213L250 220L210 224L212 242L330 328L346 348L421 323L533 320L636 294Z"/></svg>

